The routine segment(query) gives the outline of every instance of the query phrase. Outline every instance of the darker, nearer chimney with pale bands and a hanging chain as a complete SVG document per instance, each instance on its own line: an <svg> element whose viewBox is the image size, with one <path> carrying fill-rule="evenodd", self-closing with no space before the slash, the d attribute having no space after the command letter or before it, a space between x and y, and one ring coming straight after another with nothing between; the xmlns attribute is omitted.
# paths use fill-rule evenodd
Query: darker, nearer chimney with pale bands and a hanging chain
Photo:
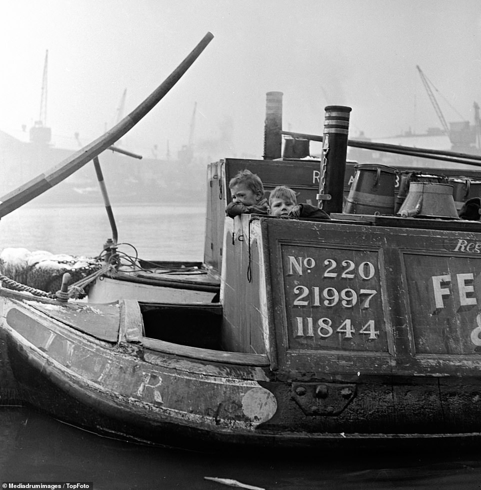
<svg viewBox="0 0 481 490"><path fill-rule="evenodd" d="M341 213L349 113L352 109L345 106L327 106L324 110L318 206L328 214Z"/></svg>

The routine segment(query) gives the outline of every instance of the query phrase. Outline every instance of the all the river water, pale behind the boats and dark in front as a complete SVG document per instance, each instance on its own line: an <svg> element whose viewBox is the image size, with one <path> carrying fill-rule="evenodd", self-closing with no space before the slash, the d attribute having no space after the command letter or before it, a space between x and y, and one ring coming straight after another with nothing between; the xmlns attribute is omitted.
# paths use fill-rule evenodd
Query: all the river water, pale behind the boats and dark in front
<svg viewBox="0 0 481 490"><path fill-rule="evenodd" d="M202 260L203 205L115 206L121 250L144 259ZM0 249L94 256L111 232L100 206L25 206L0 222ZM132 247L133 246L133 247ZM481 488L481 448L430 454L205 454L107 439L28 408L0 407L0 482L91 481L95 490L229 488L231 478L270 489Z"/></svg>

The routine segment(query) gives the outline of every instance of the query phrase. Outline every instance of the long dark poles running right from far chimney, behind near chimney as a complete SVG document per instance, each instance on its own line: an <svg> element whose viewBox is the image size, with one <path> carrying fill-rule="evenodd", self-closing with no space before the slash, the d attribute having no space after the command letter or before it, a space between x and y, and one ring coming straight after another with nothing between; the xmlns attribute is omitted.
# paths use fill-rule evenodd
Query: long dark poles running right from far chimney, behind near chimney
<svg viewBox="0 0 481 490"><path fill-rule="evenodd" d="M305 133L294 133L292 131L282 131L285 136L293 138L303 138L310 141L322 142L322 136L310 135ZM375 150L386 153L398 153L420 158L429 158L433 160L443 160L451 163L462 163L465 165L481 166L481 156L470 155L468 153L451 152L448 150L431 150L427 148L416 148L401 145L390 145L387 143L374 143L370 141L347 140L347 146L353 148L362 148L364 150Z"/></svg>

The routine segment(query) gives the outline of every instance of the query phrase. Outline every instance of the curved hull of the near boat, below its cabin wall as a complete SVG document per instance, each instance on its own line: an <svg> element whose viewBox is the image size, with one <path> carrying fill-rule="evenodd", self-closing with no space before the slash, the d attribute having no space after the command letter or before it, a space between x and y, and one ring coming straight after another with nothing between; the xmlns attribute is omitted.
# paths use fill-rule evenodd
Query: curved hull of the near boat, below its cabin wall
<svg viewBox="0 0 481 490"><path fill-rule="evenodd" d="M481 426L476 431L479 404L471 396L481 392L476 379L463 379L462 386L460 380L447 379L440 388L428 377L371 376L348 382L316 372L293 381L271 371L261 357L242 363L224 353L222 362L209 361L206 349L200 349L205 359L152 349L147 340L134 339L131 318L121 305L110 305L120 310L119 340L114 341L106 333L96 331L93 337L68 327L67 314L57 313L61 307L56 305L0 299L16 398L102 435L198 450L397 450L413 443L477 443L481 432ZM53 318L60 314L63 322ZM100 314L109 314L106 306ZM110 323L115 325L113 314ZM443 414L441 432L439 416L448 405L435 401L439 390L450 407L460 408ZM320 409L312 410L313 404Z"/></svg>

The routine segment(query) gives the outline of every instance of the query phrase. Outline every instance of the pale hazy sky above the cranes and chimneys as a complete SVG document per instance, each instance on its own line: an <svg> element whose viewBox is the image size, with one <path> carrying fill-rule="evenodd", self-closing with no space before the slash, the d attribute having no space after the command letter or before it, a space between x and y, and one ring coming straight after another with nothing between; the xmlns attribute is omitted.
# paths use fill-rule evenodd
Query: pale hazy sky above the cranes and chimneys
<svg viewBox="0 0 481 490"><path fill-rule="evenodd" d="M48 50L47 126L83 144L128 114L207 31L214 39L125 139L148 155L215 140L231 118L232 155L262 154L265 93L283 92L284 129L322 133L324 107L352 107L350 137L472 121L481 104L479 0L15 0L2 2L0 129L38 118ZM447 102L446 102L447 101ZM213 158L231 155L212 155Z"/></svg>

